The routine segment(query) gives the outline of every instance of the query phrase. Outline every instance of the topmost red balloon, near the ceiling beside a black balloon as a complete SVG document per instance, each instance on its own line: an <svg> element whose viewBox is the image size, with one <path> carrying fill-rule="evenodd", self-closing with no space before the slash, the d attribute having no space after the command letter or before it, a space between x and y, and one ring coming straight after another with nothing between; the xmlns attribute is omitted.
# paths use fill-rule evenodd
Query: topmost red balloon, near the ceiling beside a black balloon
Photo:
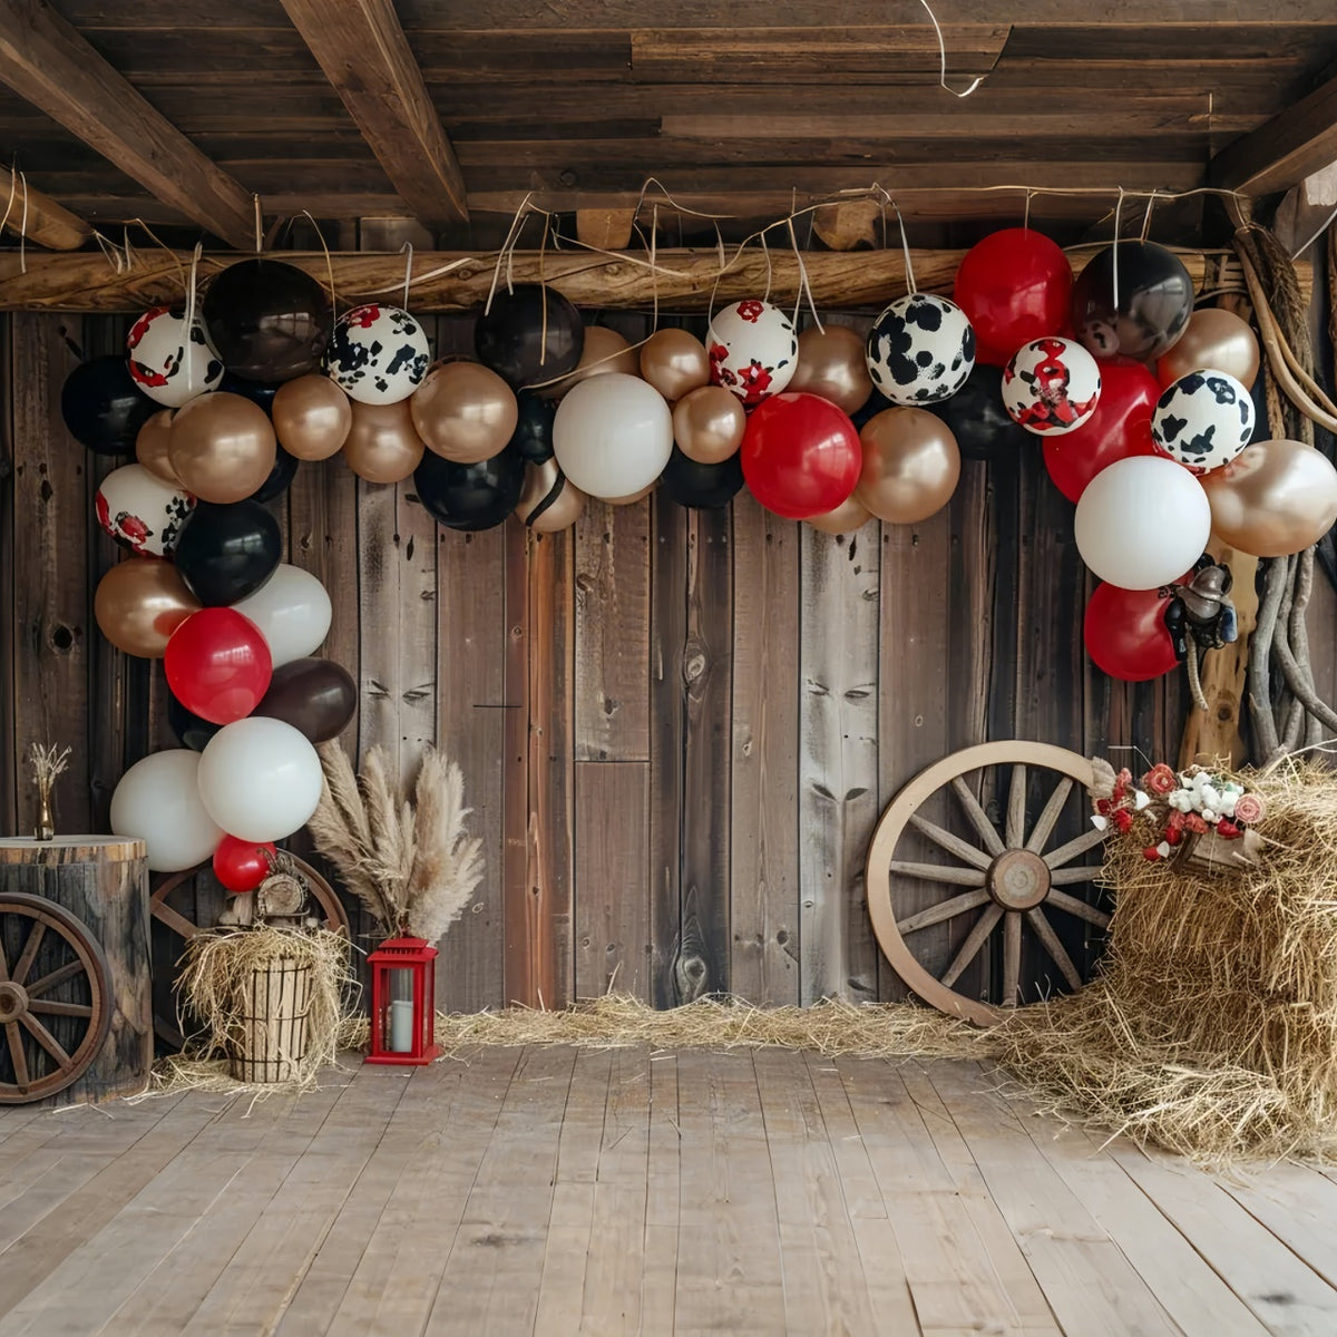
<svg viewBox="0 0 1337 1337"><path fill-rule="evenodd" d="M1058 242L1029 227L1007 227L965 253L952 295L975 326L975 360L1003 366L1029 340L1062 333L1072 266Z"/></svg>

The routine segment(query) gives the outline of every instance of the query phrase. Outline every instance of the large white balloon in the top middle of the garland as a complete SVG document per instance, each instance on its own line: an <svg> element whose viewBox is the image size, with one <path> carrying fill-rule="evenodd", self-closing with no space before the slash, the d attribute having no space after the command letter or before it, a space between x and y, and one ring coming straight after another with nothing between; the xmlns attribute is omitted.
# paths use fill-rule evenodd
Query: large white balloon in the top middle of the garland
<svg viewBox="0 0 1337 1337"><path fill-rule="evenodd" d="M673 413L639 376L592 376L558 405L552 452L562 472L587 496L631 496L663 473L673 455Z"/></svg>

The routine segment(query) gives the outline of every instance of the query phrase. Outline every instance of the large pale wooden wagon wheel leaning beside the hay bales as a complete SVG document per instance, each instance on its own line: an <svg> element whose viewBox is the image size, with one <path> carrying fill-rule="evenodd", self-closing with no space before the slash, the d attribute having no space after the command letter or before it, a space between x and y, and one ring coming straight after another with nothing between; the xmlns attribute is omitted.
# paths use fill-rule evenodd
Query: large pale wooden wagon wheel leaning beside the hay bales
<svg viewBox="0 0 1337 1337"><path fill-rule="evenodd" d="M1038 789L1043 808L1028 821L1027 792L1036 779L1042 781ZM995 781L1001 830L980 800ZM1110 916L1082 896L1083 888L1091 894L1091 884L1100 874L1103 852L1096 846L1104 833L1087 828L1063 841L1055 832L1070 809L1070 821L1075 821L1076 809L1086 808L1084 790L1091 781L1091 763L1063 747L993 742L944 757L888 805L868 852L868 906L882 952L925 1003L977 1025L993 1025L1003 1009L1016 1007L1025 992L1021 964L1028 955L1027 939L1043 948L1068 988L1082 987L1082 972L1055 931L1054 916L1075 916L1098 929L1108 927ZM969 832L967 838L923 812L935 794L947 789L961 818L957 825ZM904 848L897 857L897 846L909 830L927 838L929 862L906 860ZM1054 848L1047 849L1051 844ZM908 905L910 882L932 884L940 898L931 905ZM915 935L969 915L975 915L973 924L955 944L945 969L925 968L925 953L916 956L913 949ZM960 920L956 927L964 928L965 923ZM989 959L1001 960L1001 972L993 972L1001 973L1001 981L993 979L989 1000L957 993L953 985L985 949Z"/></svg>

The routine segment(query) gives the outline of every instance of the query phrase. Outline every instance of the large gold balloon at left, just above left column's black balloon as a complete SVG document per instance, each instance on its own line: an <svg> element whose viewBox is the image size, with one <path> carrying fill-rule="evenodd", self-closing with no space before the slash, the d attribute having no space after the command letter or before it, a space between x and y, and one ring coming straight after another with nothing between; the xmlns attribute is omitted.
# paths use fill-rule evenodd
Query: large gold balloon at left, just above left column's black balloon
<svg viewBox="0 0 1337 1337"><path fill-rule="evenodd" d="M180 485L219 505L249 497L278 457L265 410L226 390L201 394L176 409L167 449Z"/></svg>

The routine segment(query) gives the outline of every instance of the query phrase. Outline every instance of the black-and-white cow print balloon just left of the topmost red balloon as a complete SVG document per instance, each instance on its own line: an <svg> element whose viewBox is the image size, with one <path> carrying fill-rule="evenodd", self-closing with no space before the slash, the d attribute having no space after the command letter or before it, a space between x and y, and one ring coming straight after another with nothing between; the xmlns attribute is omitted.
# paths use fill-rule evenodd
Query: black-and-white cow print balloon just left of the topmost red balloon
<svg viewBox="0 0 1337 1337"><path fill-rule="evenodd" d="M975 328L956 302L910 293L877 317L866 354L873 385L893 404L937 404L975 366Z"/></svg>

